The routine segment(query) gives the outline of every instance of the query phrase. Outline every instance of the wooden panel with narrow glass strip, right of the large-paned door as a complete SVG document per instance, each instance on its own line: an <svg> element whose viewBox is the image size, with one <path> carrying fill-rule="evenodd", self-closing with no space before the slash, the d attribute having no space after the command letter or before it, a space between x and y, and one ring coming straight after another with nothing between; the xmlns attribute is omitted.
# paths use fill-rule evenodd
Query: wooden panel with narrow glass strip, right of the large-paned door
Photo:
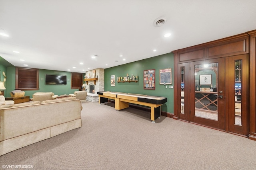
<svg viewBox="0 0 256 170"><path fill-rule="evenodd" d="M226 131L249 134L249 55L226 57Z"/></svg>

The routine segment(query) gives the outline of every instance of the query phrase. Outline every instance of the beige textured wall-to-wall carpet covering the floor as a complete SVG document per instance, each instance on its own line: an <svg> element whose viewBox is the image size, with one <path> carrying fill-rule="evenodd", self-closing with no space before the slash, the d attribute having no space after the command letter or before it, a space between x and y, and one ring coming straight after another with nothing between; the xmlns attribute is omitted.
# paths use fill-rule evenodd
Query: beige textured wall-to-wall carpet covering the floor
<svg viewBox="0 0 256 170"><path fill-rule="evenodd" d="M113 104L92 102L82 106L81 128L0 156L1 168L256 169L256 141L164 116L151 123L149 112L134 108L116 111Z"/></svg>

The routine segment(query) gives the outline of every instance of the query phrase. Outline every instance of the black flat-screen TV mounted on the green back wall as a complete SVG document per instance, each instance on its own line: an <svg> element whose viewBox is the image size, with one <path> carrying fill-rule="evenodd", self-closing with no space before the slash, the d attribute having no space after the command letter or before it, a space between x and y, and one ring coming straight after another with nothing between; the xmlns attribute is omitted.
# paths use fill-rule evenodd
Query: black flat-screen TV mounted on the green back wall
<svg viewBox="0 0 256 170"><path fill-rule="evenodd" d="M67 85L67 76L45 74L45 85Z"/></svg>

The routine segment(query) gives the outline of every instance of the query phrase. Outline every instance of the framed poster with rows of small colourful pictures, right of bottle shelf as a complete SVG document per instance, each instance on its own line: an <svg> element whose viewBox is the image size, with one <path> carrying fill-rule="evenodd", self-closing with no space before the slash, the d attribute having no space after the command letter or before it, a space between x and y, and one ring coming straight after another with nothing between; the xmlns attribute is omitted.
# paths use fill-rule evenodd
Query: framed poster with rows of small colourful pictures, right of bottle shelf
<svg viewBox="0 0 256 170"><path fill-rule="evenodd" d="M144 70L144 89L155 90L155 69Z"/></svg>

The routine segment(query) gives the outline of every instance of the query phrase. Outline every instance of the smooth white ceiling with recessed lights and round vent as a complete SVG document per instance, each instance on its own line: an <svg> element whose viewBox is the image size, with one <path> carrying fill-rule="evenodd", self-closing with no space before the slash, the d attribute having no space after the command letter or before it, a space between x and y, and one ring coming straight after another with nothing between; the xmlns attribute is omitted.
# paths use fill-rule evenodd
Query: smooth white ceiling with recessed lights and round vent
<svg viewBox="0 0 256 170"><path fill-rule="evenodd" d="M255 7L256 0L0 0L0 33L9 35L0 35L0 56L47 70L110 68L254 30ZM166 23L155 27L157 18Z"/></svg>

